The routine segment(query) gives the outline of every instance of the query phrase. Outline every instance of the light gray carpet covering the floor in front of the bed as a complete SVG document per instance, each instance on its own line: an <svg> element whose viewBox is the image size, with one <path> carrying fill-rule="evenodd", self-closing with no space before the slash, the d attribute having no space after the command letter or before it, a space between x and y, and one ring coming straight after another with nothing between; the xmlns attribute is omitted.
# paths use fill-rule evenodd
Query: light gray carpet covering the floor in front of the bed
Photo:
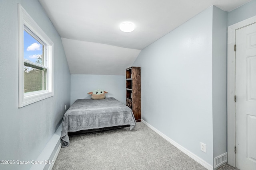
<svg viewBox="0 0 256 170"><path fill-rule="evenodd" d="M53 170L206 170L143 123L72 135ZM224 169L222 169L224 170Z"/></svg>

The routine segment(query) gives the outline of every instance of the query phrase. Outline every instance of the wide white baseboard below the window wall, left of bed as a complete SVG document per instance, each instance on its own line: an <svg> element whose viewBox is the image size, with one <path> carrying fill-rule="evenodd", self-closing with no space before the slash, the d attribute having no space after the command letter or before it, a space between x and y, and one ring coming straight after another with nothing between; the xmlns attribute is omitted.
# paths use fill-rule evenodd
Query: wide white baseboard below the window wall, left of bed
<svg viewBox="0 0 256 170"><path fill-rule="evenodd" d="M46 147L42 150L36 161L42 162L39 164L33 164L30 170L52 170L54 162L60 152L61 141L60 135L62 131L62 124L58 127Z"/></svg>

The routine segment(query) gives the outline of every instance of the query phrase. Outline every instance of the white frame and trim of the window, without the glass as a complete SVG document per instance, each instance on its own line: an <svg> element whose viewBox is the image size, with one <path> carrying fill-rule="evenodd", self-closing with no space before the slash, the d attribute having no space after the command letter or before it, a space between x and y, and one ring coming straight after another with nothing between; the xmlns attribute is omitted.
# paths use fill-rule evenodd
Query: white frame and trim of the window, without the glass
<svg viewBox="0 0 256 170"><path fill-rule="evenodd" d="M44 42L44 66L46 72L46 90L24 93L24 29L25 26ZM26 61L27 62L27 61ZM18 76L19 76L19 107L52 97L53 92L53 42L18 4Z"/></svg>

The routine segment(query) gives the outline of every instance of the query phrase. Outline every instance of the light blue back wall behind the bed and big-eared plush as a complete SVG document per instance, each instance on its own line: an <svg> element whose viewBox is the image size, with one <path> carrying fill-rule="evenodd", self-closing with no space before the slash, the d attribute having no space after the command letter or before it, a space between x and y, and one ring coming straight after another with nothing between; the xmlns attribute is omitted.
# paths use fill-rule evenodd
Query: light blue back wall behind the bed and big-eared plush
<svg viewBox="0 0 256 170"><path fill-rule="evenodd" d="M71 74L70 104L73 104L77 99L91 98L87 92L95 89L106 90L108 91L107 98L114 97L126 104L125 88L125 76Z"/></svg>

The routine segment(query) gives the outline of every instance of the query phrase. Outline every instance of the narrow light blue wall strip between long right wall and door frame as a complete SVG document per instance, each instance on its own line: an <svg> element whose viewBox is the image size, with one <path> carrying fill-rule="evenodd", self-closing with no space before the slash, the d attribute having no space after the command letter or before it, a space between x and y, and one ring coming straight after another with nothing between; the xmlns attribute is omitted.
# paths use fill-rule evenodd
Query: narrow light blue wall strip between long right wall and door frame
<svg viewBox="0 0 256 170"><path fill-rule="evenodd" d="M212 117L213 158L227 152L227 23L228 12L213 6ZM214 160L213 160L214 161Z"/></svg>

